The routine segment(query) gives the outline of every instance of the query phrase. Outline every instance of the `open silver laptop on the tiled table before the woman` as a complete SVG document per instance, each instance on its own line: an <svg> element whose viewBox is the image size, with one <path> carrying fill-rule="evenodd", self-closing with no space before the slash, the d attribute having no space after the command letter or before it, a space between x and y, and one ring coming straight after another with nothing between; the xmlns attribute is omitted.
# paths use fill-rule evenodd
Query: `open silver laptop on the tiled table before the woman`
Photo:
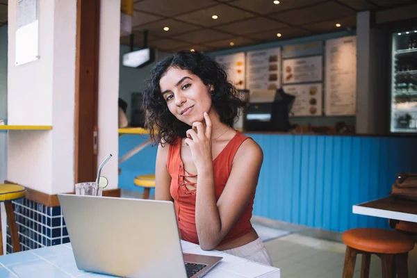
<svg viewBox="0 0 417 278"><path fill-rule="evenodd" d="M121 277L202 277L222 257L183 254L174 204L58 195L80 270Z"/></svg>

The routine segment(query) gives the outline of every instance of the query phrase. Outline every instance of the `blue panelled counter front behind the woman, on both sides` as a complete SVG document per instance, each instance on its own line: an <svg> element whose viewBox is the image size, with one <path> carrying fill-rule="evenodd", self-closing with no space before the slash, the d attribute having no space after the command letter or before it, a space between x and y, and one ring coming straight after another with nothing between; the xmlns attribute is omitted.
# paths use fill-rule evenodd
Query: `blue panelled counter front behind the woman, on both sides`
<svg viewBox="0 0 417 278"><path fill-rule="evenodd" d="M386 197L401 171L417 172L414 138L250 134L264 161L254 215L329 231L387 227L387 220L352 213L352 205ZM145 139L120 138L120 154ZM156 147L122 163L120 188L154 173Z"/></svg>

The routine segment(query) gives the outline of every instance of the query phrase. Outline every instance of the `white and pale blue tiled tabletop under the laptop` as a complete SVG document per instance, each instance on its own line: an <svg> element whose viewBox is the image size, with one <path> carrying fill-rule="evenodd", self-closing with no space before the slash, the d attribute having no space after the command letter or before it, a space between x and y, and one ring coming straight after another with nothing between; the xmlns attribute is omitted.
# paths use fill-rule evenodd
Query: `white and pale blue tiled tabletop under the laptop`
<svg viewBox="0 0 417 278"><path fill-rule="evenodd" d="M222 256L204 278L279 278L280 270L218 251L203 251L198 245L181 240L183 252ZM0 277L67 278L111 277L79 270L70 243L0 256Z"/></svg>

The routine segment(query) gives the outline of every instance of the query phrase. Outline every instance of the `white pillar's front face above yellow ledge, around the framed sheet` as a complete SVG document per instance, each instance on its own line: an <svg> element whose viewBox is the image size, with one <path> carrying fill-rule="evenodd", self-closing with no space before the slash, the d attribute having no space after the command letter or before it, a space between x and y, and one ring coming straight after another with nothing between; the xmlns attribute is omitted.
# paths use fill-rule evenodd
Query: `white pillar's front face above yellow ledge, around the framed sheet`
<svg viewBox="0 0 417 278"><path fill-rule="evenodd" d="M54 3L38 1L40 59L17 67L17 0L8 1L8 124L52 125Z"/></svg>

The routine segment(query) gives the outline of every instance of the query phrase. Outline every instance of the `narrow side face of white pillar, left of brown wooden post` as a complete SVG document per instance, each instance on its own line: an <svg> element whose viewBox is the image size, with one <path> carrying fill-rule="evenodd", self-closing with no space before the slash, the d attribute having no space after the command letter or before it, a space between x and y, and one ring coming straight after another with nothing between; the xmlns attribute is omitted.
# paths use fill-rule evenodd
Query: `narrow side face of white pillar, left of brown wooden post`
<svg viewBox="0 0 417 278"><path fill-rule="evenodd" d="M76 1L56 1L52 74L52 194L74 190Z"/></svg>

